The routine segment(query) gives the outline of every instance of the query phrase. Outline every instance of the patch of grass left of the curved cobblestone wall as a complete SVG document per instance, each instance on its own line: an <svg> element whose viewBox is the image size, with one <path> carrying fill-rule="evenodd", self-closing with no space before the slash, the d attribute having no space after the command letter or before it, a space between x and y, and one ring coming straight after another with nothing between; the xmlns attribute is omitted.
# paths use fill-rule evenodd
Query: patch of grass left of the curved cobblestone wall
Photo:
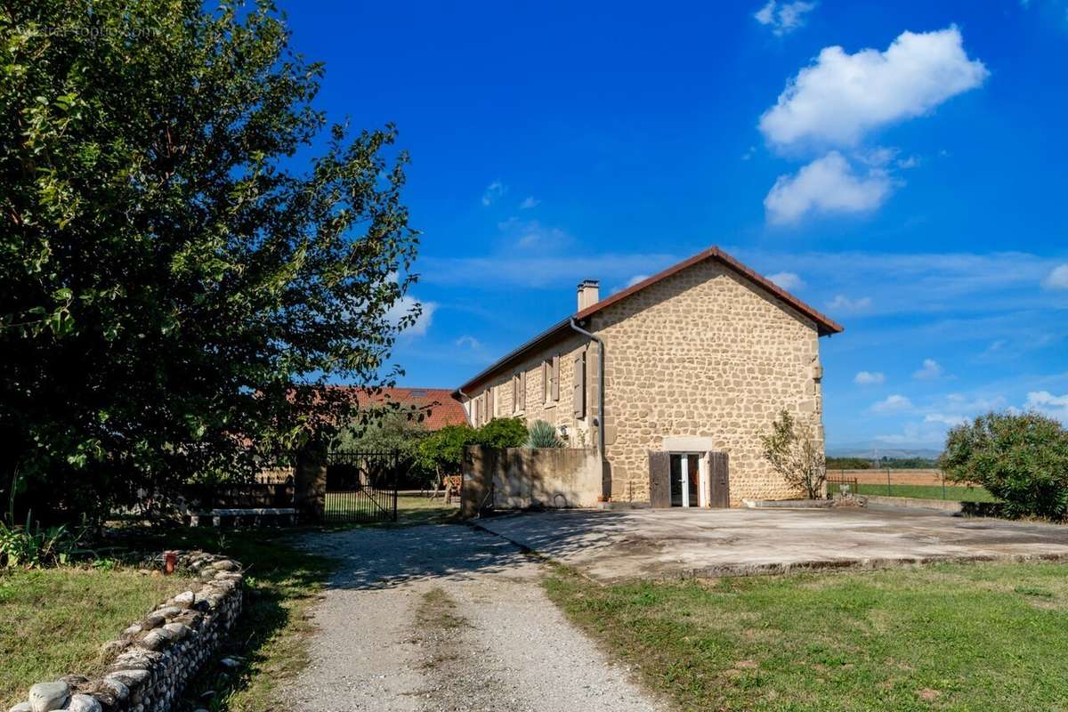
<svg viewBox="0 0 1068 712"><path fill-rule="evenodd" d="M37 682L99 671L100 646L184 584L134 569L0 570L0 709Z"/></svg>

